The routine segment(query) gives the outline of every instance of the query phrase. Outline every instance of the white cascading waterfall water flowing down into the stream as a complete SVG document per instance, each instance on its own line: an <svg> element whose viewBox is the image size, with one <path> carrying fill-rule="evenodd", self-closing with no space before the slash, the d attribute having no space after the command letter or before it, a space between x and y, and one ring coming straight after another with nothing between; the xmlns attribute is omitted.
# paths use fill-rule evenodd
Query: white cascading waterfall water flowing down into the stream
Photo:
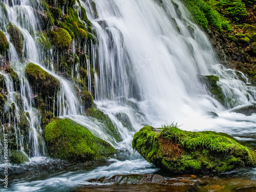
<svg viewBox="0 0 256 192"><path fill-rule="evenodd" d="M9 114L17 114L17 146L22 151L24 138L19 135L18 114L19 110L28 113L28 140L33 146L30 162L12 165L12 168L24 169L25 173L31 168L32 176L23 174L22 177L13 177L8 190L1 188L0 191L56 191L56 188L58 191L71 191L84 185L93 185L87 182L92 178L157 173L159 169L132 149L133 135L144 124L161 127L177 122L181 129L187 131L211 130L225 132L238 139L256 140L256 114L245 116L232 112L233 108L252 105L256 99L256 88L250 86L244 74L227 69L218 62L207 36L191 20L180 1L95 0L96 16L92 1L80 0L97 32L98 43L92 47L91 53L93 61L87 63L88 71L93 67L98 72L94 74L95 103L98 109L109 115L123 139L121 142L104 133L104 124L82 115L72 83L59 76L51 65L42 62L45 59L53 62L52 58L58 53L52 50L44 52L36 43L34 34L42 27L33 9L43 9L39 1L11 2L12 7L6 6L7 17L2 14L0 7L0 30L10 41L5 26L12 22L24 36L22 58L11 42L8 52L10 66L20 80L22 109L15 100L16 92L11 78L1 72L5 76L9 93L5 110L10 111L10 103L14 103L15 110ZM7 0L4 3L8 5ZM20 19L20 15L24 19ZM59 117L70 118L88 127L93 134L116 148L117 154L108 165L90 165L91 168L77 165L78 168L71 166L60 171L65 162L44 157L40 115L34 108L32 90L24 71L29 62L40 66L60 81L61 89L57 98ZM216 75L220 78L218 85L224 92L225 106L210 96L198 75ZM209 115L212 112L218 117ZM10 119L5 123L10 123ZM56 168L54 161L60 167L56 165ZM44 164L56 170L53 168L52 171L37 175L32 167L40 168ZM255 179L254 169L246 171L246 174L250 175L249 179Z"/></svg>

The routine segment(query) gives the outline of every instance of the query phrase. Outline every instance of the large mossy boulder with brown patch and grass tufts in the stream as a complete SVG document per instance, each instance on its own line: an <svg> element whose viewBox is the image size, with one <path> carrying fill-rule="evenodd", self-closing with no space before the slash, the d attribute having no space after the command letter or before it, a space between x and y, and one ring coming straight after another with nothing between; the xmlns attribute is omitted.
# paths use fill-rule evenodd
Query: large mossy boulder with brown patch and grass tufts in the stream
<svg viewBox="0 0 256 192"><path fill-rule="evenodd" d="M133 148L148 162L174 173L226 172L256 165L256 153L233 137L182 131L174 124L158 133L143 127L134 135Z"/></svg>

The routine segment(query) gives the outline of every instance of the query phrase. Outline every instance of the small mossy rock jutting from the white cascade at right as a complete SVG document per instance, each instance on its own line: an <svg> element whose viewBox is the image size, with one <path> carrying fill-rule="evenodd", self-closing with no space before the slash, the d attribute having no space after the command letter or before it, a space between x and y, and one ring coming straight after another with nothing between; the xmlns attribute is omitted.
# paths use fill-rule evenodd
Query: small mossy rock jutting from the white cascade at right
<svg viewBox="0 0 256 192"><path fill-rule="evenodd" d="M214 97L221 104L225 105L225 98L222 89L218 86L217 82L219 81L219 77L214 75L198 75L200 81L205 84L206 88L211 93L212 97Z"/></svg>

